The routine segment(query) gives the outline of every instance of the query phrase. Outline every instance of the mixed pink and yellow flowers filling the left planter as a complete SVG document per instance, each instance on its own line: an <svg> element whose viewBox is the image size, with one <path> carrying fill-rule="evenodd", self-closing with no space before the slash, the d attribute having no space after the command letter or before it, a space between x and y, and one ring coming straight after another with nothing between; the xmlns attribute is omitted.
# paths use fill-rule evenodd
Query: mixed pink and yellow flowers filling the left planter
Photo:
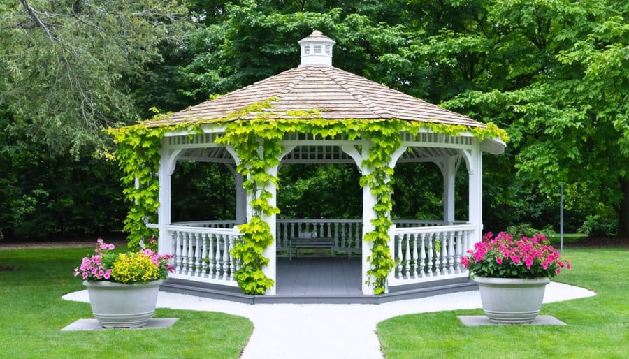
<svg viewBox="0 0 629 359"><path fill-rule="evenodd" d="M94 255L83 258L80 267L74 268L74 277L87 281L115 281L123 284L145 283L166 279L175 268L168 265L169 254L157 254L151 249L133 253L116 253L113 244L102 239L96 241Z"/></svg>

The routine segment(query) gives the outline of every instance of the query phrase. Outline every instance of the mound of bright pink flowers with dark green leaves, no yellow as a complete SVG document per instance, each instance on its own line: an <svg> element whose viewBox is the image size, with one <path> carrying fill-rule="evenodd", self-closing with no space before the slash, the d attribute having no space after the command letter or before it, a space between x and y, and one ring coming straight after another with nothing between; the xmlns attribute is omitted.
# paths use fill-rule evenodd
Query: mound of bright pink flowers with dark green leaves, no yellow
<svg viewBox="0 0 629 359"><path fill-rule="evenodd" d="M513 240L501 232L493 237L489 232L482 242L474 244L468 256L461 258L463 267L478 277L540 278L555 277L570 262L561 261L560 254L543 235Z"/></svg>

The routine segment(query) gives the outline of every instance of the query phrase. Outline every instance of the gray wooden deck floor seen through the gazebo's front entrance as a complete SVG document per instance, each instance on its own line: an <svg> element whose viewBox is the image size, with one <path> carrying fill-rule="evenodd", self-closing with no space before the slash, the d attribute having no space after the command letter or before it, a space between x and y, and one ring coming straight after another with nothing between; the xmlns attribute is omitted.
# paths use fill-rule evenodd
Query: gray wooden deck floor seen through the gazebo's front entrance
<svg viewBox="0 0 629 359"><path fill-rule="evenodd" d="M361 258L277 258L277 295L362 295Z"/></svg>

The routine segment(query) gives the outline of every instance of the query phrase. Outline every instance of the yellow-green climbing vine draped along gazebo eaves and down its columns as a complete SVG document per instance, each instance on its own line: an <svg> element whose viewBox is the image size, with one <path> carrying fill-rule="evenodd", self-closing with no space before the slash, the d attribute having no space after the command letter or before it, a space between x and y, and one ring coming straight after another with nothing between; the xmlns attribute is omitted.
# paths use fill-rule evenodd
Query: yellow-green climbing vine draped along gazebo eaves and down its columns
<svg viewBox="0 0 629 359"><path fill-rule="evenodd" d="M194 135L201 131L202 124L220 122L225 125L224 133L217 142L230 145L238 154L237 170L246 180L243 187L250 193L252 213L246 224L238 228L243 234L232 249L234 257L240 261L240 268L235 274L238 285L247 294L263 294L274 284L263 273L269 259L263 251L273 243L273 233L265 221L265 217L277 214L280 210L270 205L273 194L268 186L277 186L277 173L273 171L280 164L283 148L281 141L285 133L310 133L321 138L333 138L343 135L349 140L365 138L370 143L369 156L363 159L361 167L363 176L361 186L369 186L376 198L373 206L375 219L372 220L374 230L363 237L372 242L371 255L368 258L371 268L368 270L368 285L373 286L375 293L384 293L386 279L395 266L389 248L389 229L393 225L390 212L393 207L391 196L393 187L391 178L391 156L400 147L400 132L407 131L417 135L419 131L431 131L444 135L461 135L468 132L479 140L500 138L507 141L505 131L494 124L486 127L472 128L467 126L451 126L435 122L406 122L401 120L360 120L343 119L328 120L317 116L317 111L296 111L288 114L294 119L272 118L271 107L273 98L268 101L247 106L224 119L194 121L176 126L147 127L143 124L128 126L122 129L110 129L115 142L119 145L116 155L120 168L125 175L122 182L127 186L124 190L126 199L131 202L131 210L124 224L130 233L129 244L137 245L140 240L155 235L155 230L147 228L145 220L154 220L159 207L159 149L161 138L166 131L187 128ZM255 119L242 119L255 114ZM296 118L310 119L296 119ZM139 186L136 186L136 179Z"/></svg>

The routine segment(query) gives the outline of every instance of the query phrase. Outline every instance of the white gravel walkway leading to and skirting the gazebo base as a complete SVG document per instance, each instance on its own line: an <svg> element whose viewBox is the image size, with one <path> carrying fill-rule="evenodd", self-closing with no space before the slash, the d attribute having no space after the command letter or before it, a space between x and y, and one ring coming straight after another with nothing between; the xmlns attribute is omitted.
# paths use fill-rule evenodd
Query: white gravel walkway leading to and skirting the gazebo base
<svg viewBox="0 0 629 359"><path fill-rule="evenodd" d="M551 282L546 288L544 303L592 295L595 293L584 288ZM69 293L63 298L89 302L87 291ZM382 305L247 305L159 292L157 307L223 312L249 318L254 323L254 332L242 359L382 359L375 333L380 321L403 314L475 309L481 307L481 301L478 291L468 291Z"/></svg>

